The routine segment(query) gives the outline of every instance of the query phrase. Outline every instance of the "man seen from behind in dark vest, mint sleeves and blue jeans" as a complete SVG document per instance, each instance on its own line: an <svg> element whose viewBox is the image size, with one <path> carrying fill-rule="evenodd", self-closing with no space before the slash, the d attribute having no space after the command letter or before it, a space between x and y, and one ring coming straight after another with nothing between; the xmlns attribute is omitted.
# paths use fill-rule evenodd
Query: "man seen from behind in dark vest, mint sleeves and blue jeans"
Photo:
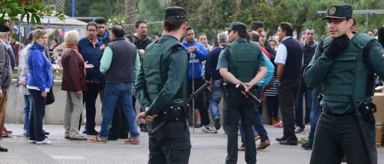
<svg viewBox="0 0 384 164"><path fill-rule="evenodd" d="M105 74L104 113L101 131L98 136L91 138L94 143L106 143L109 127L111 126L113 110L116 103L121 104L127 116L131 137L124 140L127 144L138 144L139 132L132 107L133 82L135 80L135 64L137 63L136 47L124 39L124 28L114 25L111 28L112 43L104 50L100 61L100 72Z"/></svg>

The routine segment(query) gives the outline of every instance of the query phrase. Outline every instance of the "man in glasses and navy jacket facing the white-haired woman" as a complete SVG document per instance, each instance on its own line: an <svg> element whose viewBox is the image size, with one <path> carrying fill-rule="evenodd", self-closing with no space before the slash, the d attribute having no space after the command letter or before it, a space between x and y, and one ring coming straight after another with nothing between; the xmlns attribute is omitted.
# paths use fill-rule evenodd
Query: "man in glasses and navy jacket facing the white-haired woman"
<svg viewBox="0 0 384 164"><path fill-rule="evenodd" d="M86 134L98 135L95 128L96 115L96 98L100 90L101 72L99 71L100 62L98 60L100 54L101 43L98 42L96 35L98 34L98 25L94 22L89 22L86 26L86 37L81 38L78 43L78 49L83 56L84 61L88 64L93 64L93 68L86 69L87 91L83 92L83 103L85 102L86 109Z"/></svg>

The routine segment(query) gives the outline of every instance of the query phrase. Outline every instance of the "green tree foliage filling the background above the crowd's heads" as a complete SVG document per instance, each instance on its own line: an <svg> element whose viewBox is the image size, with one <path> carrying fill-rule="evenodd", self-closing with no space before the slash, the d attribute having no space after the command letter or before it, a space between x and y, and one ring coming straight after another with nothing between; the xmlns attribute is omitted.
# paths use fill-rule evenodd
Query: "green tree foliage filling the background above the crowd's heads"
<svg viewBox="0 0 384 164"><path fill-rule="evenodd" d="M45 0L53 1L53 0ZM55 1L51 2L55 3ZM72 1L66 0L65 13L71 15ZM307 27L316 30L317 38L327 34L326 24L317 11L346 0L136 0L136 20L148 23L162 21L164 8L182 5L189 15L188 25L196 33L207 33L210 41L233 21L247 26L254 20L263 21L268 34L274 34L281 22L289 22L298 34ZM384 9L384 0L349 0L354 10ZM49 4L51 5L51 4ZM102 16L111 22L120 22L124 15L124 0L76 0L76 16ZM353 15L358 31L366 31L366 15ZM384 15L369 15L369 26L376 30L384 25ZM161 23L148 24L148 33L161 33Z"/></svg>

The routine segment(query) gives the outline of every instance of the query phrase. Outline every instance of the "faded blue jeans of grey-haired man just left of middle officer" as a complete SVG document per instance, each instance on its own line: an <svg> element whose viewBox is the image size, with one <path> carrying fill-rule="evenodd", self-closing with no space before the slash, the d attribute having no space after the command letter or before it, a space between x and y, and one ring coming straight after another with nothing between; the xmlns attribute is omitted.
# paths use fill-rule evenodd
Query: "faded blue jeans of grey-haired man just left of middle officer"
<svg viewBox="0 0 384 164"><path fill-rule="evenodd" d="M220 118L220 114L218 113L218 103L221 100L222 94L223 92L220 89L220 80L212 81L212 91L209 98L209 112L211 113L212 120Z"/></svg>

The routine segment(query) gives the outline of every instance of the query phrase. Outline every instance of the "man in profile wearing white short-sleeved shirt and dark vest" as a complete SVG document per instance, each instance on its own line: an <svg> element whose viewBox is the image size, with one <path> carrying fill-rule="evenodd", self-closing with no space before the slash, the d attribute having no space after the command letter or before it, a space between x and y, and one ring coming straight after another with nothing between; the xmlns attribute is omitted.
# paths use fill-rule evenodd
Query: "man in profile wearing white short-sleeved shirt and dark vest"
<svg viewBox="0 0 384 164"><path fill-rule="evenodd" d="M277 64L276 82L284 135L276 140L284 145L297 145L293 105L300 85L303 48L299 41L292 38L292 34L291 23L280 23L277 29L280 45L276 52L275 64Z"/></svg>

